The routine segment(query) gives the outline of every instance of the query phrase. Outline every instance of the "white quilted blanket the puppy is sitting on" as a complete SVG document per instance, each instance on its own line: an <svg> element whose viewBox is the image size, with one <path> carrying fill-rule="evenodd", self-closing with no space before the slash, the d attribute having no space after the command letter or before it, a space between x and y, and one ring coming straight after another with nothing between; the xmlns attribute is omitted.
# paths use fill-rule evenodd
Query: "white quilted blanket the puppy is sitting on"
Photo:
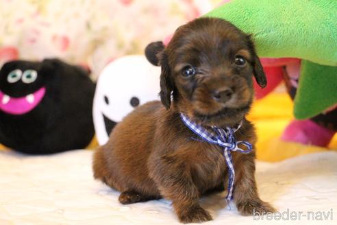
<svg viewBox="0 0 337 225"><path fill-rule="evenodd" d="M93 180L91 157L0 152L0 224L178 224L167 200L119 204L118 192ZM336 152L258 162L256 178L280 217L243 217L219 194L202 200L214 217L206 224L337 224Z"/></svg>

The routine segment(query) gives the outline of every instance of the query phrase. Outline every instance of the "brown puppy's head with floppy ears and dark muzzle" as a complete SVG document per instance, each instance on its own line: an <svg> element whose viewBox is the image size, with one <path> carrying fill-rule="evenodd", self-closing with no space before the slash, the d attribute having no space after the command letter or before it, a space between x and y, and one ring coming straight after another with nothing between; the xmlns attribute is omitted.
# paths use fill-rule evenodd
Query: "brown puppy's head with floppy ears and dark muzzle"
<svg viewBox="0 0 337 225"><path fill-rule="evenodd" d="M245 116L253 76L266 86L250 37L222 19L201 18L179 27L159 58L164 106L171 106L173 95L177 110L206 126L234 125Z"/></svg>

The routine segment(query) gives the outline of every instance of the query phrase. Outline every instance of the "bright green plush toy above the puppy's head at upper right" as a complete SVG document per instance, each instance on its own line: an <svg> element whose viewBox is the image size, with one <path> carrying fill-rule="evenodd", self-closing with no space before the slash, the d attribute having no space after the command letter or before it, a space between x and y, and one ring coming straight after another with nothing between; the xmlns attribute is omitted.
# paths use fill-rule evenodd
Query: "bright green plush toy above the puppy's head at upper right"
<svg viewBox="0 0 337 225"><path fill-rule="evenodd" d="M253 34L260 57L302 59L297 119L337 103L337 0L233 0L205 16Z"/></svg>

